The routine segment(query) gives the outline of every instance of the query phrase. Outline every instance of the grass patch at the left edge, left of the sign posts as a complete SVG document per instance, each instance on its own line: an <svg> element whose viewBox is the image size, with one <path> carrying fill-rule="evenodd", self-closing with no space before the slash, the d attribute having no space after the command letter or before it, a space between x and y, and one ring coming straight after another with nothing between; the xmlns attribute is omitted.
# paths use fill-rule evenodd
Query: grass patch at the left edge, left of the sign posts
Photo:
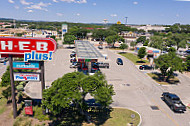
<svg viewBox="0 0 190 126"><path fill-rule="evenodd" d="M7 99L3 97L2 91L6 89L6 87L0 87L0 114L6 111L7 107Z"/></svg>

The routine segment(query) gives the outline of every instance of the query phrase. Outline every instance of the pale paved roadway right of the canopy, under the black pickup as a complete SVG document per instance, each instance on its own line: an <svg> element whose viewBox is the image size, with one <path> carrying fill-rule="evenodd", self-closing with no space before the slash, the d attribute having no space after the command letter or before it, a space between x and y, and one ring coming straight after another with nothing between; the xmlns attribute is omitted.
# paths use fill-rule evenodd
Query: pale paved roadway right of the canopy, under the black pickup
<svg viewBox="0 0 190 126"><path fill-rule="evenodd" d="M180 85L159 86L128 59L113 51L105 52L108 54L110 69L101 71L105 73L108 83L113 84L116 92L112 106L136 110L142 116L142 126L190 126L189 110L174 113L161 99L163 91L171 91L177 93L182 101L190 101L189 78L179 75L182 79ZM123 66L116 64L118 57L123 59ZM153 110L151 106L158 106L159 110Z"/></svg>

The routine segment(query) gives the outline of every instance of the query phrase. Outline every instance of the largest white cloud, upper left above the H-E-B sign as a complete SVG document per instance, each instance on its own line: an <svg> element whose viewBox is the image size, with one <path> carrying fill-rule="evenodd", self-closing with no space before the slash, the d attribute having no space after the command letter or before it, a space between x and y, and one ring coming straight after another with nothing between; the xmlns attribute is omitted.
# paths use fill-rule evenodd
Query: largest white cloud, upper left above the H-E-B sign
<svg viewBox="0 0 190 126"><path fill-rule="evenodd" d="M36 10L48 11L47 8L43 8L43 7L48 7L49 5L51 5L51 3L40 2L38 4L33 4L30 7L26 7L26 9L36 9Z"/></svg>

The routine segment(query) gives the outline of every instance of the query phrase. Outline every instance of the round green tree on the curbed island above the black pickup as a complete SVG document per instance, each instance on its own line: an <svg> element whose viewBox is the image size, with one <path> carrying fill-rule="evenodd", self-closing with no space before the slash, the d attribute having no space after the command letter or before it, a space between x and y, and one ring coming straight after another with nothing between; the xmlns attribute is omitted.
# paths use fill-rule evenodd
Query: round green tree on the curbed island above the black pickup
<svg viewBox="0 0 190 126"><path fill-rule="evenodd" d="M155 59L156 67L161 71L163 81L168 81L172 76L174 71L182 72L184 67L182 59L176 56L174 52L169 52Z"/></svg>

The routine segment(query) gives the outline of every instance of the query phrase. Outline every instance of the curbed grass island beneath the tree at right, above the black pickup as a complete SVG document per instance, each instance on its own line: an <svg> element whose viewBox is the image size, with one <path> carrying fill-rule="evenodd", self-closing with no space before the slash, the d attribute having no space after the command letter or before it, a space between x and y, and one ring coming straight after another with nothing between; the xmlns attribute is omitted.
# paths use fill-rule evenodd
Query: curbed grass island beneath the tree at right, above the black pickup
<svg viewBox="0 0 190 126"><path fill-rule="evenodd" d="M152 79L154 79L157 83L161 85L171 85L171 84L177 84L179 83L179 79L174 76L173 78L170 78L168 82L164 82L161 79L160 73L147 73L148 76L150 76Z"/></svg>

